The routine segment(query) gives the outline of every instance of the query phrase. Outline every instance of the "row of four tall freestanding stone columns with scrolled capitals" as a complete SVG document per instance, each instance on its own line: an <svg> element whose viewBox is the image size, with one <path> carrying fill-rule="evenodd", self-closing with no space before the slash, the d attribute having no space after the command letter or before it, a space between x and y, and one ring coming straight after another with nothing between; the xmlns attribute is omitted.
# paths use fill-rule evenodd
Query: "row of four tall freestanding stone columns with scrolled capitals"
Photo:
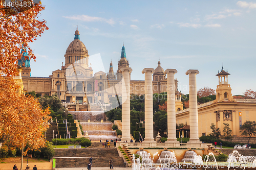
<svg viewBox="0 0 256 170"><path fill-rule="evenodd" d="M122 79L122 141L130 141L130 73L132 68L121 68ZM153 89L152 74L153 68L144 68L142 74L145 74L145 138L144 142L155 142L153 131ZM175 110L175 79L176 69L166 69L167 74L167 130L168 138L166 142L178 143L176 138L176 110ZM199 143L198 137L198 110L197 110L197 84L196 75L199 71L189 69L186 75L189 75L189 125L190 140L189 143Z"/></svg>

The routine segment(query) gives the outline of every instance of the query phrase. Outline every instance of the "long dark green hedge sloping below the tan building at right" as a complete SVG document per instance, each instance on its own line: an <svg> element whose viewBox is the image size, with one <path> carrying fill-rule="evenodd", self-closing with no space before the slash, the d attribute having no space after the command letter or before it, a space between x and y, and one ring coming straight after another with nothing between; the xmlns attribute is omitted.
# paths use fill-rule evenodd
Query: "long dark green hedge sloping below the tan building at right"
<svg viewBox="0 0 256 170"><path fill-rule="evenodd" d="M230 142L230 141L223 141L221 139L216 139L216 138L213 138L210 136L201 136L201 137L199 137L199 139L200 139L200 141L203 141L206 143L212 143L213 145L214 145L214 142L217 142L218 145L221 142L223 147L234 147L234 145L236 145L236 144L241 144L241 146L244 144L248 144L248 143L240 143L240 142L234 143L234 142ZM251 145L251 148L256 148L255 143L250 143L250 145Z"/></svg>

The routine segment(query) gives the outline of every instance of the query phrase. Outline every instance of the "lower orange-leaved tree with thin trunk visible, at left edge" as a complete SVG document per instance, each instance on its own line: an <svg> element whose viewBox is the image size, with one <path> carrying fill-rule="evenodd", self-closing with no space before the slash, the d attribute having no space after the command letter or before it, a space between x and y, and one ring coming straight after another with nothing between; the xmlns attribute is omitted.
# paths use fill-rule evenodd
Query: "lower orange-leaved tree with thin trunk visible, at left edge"
<svg viewBox="0 0 256 170"><path fill-rule="evenodd" d="M17 88L12 77L0 76L0 137L10 149L20 148L22 169L23 155L45 146L50 109L42 109L33 96L18 94Z"/></svg>

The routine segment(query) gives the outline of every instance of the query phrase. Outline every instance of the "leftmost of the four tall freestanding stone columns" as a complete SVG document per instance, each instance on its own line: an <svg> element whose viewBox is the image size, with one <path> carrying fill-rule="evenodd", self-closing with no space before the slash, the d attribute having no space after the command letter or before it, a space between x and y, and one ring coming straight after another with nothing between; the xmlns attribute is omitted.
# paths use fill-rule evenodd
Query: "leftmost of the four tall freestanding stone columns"
<svg viewBox="0 0 256 170"><path fill-rule="evenodd" d="M132 68L125 67L119 70L122 73L122 142L130 142L131 124L130 124L130 72Z"/></svg>

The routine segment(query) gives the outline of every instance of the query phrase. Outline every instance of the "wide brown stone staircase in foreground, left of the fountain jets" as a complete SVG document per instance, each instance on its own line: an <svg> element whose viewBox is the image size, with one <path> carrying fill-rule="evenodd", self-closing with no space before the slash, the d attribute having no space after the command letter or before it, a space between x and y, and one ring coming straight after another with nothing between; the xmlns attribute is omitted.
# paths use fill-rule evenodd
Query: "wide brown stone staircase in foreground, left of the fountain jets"
<svg viewBox="0 0 256 170"><path fill-rule="evenodd" d="M101 143L102 144L102 143ZM109 167L112 159L114 167L124 167L122 157L119 157L116 148L82 148L82 149L54 149L56 168L85 167L93 158L92 167Z"/></svg>

